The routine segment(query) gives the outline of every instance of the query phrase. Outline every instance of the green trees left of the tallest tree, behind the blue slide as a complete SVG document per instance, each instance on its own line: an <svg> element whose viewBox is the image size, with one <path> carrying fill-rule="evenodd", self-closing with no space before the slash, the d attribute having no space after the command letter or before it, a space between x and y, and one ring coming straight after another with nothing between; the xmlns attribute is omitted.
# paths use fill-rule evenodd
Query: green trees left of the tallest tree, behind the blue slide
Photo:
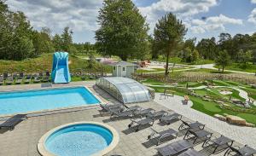
<svg viewBox="0 0 256 156"><path fill-rule="evenodd" d="M8 5L0 0L0 60L20 61L55 51L75 54L93 49L90 43L73 43L72 35L69 27L55 36L51 36L47 27L37 31L25 14L10 11Z"/></svg>

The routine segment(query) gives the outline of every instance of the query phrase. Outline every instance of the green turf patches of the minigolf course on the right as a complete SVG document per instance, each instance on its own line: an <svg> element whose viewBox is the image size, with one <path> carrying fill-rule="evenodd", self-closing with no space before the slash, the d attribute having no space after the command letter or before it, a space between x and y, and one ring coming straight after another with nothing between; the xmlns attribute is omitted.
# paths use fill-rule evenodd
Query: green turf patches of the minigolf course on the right
<svg viewBox="0 0 256 156"><path fill-rule="evenodd" d="M148 83L154 82L154 84L160 83L155 80L150 80ZM189 82L192 84L192 82ZM179 85L185 85L186 83L179 83ZM218 81L218 84L225 84L226 86L230 86L231 84L236 84L235 82L220 82ZM200 85L200 83L195 83L195 85ZM237 86L237 85L236 85ZM156 92L164 92L165 88L164 87L152 87ZM186 92L178 90L177 88L171 88L170 90L175 91L175 95L187 95ZM239 96L239 92L237 90L229 89L229 88L220 88L220 89L214 89L214 90L195 90L195 92L199 95L210 95L210 96L219 96L219 97L229 97L229 95L222 95L218 92L218 90L232 90L232 97L236 99L241 99L244 101ZM246 89L246 91L249 90L253 94L256 93L256 90L253 89ZM230 115L235 115L241 118L244 118L247 120L248 123L253 123L256 124L256 114L253 113L239 113L235 111L231 111L226 108L221 108L219 107L218 103L215 103L214 101L203 101L200 97L195 97L192 95L189 95L189 99L193 102L193 109L200 111L201 113L206 113L210 116L213 116L214 114L221 114L224 115L224 113L230 114ZM233 106L237 107L237 106ZM255 110L256 107L252 107L251 109Z"/></svg>

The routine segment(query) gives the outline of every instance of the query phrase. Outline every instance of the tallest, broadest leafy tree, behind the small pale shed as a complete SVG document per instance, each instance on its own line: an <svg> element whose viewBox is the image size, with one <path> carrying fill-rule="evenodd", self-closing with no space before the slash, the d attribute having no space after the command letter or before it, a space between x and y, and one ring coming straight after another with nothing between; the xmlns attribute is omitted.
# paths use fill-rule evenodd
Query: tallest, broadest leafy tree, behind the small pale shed
<svg viewBox="0 0 256 156"><path fill-rule="evenodd" d="M102 55L126 61L148 49L148 24L131 0L104 0L98 23L96 48Z"/></svg>

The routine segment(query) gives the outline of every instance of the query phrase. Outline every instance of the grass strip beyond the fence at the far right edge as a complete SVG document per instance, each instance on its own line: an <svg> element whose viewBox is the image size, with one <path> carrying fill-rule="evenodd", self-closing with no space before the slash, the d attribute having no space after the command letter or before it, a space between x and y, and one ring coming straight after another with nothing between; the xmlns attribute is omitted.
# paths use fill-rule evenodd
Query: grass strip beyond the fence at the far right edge
<svg viewBox="0 0 256 156"><path fill-rule="evenodd" d="M218 66L215 66L218 68ZM232 71L240 71L240 72L256 72L256 65L253 63L243 64L243 63L232 63L230 66L226 66L225 69Z"/></svg>

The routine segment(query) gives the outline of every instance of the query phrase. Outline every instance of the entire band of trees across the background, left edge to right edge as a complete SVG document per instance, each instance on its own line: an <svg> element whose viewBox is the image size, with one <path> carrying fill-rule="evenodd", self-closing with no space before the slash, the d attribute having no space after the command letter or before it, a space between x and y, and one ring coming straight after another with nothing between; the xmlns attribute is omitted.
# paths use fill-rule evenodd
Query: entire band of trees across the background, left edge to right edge
<svg viewBox="0 0 256 156"><path fill-rule="evenodd" d="M157 21L153 35L148 35L146 17L131 0L104 0L97 22L100 27L95 32L95 44L73 43L73 31L68 27L55 36L46 27L34 30L25 14L10 11L0 0L0 59L23 60L59 50L71 54L96 50L101 55L119 56L123 61L157 59L163 55L166 67L173 56L183 62L214 60L218 65L235 61L246 66L256 62L256 33L234 37L221 33L218 41L203 38L196 42L196 38L184 39L187 28L183 21L167 13Z"/></svg>

